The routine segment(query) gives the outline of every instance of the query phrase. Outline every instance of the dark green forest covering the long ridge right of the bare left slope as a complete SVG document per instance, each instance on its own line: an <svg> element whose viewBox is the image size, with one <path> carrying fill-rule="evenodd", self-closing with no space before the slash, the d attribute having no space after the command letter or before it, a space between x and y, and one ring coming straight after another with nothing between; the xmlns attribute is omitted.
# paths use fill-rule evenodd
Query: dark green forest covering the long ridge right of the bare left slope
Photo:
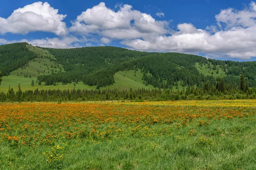
<svg viewBox="0 0 256 170"><path fill-rule="evenodd" d="M200 74L195 64L209 65L218 74L223 69L227 76L226 85L239 85L238 76L243 72L249 87L256 87L256 62L233 62L180 53L147 53L116 47L90 47L75 49L47 49L57 61L64 65L66 73L40 76L40 82L52 85L56 82L70 83L83 81L98 88L114 83L117 71L140 68L143 80L157 88L172 88L181 82L183 87L205 82L217 85L217 79ZM213 74L213 73L212 73Z"/></svg>

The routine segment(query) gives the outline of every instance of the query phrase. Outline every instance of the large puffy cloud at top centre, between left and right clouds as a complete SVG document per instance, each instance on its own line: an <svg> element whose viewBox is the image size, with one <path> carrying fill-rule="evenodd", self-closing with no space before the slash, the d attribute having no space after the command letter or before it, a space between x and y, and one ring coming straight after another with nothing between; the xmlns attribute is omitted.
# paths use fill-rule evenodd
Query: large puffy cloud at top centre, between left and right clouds
<svg viewBox="0 0 256 170"><path fill-rule="evenodd" d="M130 5L119 5L118 11L113 11L102 2L83 11L73 21L70 31L85 35L96 33L116 39L144 38L153 34L166 34L167 26L167 21L157 21L149 14L134 10Z"/></svg>

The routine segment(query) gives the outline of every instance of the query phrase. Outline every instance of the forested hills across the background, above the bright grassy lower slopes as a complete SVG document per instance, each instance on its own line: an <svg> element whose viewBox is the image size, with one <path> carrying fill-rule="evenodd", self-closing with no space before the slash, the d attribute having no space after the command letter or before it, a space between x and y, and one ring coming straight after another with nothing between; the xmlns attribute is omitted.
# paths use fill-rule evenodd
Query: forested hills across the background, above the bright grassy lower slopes
<svg viewBox="0 0 256 170"><path fill-rule="evenodd" d="M191 54L148 53L110 46L53 49L33 47L27 43L0 45L3 76L26 68L29 62L38 58L54 63L50 72L44 69L41 73L41 66L33 68L38 73L32 76L37 77L40 85L43 82L43 85L83 82L101 88L115 83L116 72L134 70L135 77L137 71L142 72L143 83L156 88L203 87L206 83L211 87L222 80L226 87L236 88L242 73L247 85L256 87L256 62L221 61Z"/></svg>

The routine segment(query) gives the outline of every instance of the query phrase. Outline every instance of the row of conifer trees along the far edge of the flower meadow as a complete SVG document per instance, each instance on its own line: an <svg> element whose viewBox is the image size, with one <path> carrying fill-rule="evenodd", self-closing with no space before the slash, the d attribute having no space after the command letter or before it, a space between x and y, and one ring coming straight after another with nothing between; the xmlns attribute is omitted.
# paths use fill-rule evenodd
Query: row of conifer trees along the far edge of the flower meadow
<svg viewBox="0 0 256 170"><path fill-rule="evenodd" d="M256 99L256 88L248 88L244 74L240 77L239 87L226 86L224 79L219 78L216 85L204 83L202 87L188 86L182 91L171 89L122 90L28 90L22 91L20 84L15 93L9 87L7 93L0 93L1 102L41 102L41 101L101 101L101 100L131 100L131 101L159 101L159 100L195 100L195 99Z"/></svg>

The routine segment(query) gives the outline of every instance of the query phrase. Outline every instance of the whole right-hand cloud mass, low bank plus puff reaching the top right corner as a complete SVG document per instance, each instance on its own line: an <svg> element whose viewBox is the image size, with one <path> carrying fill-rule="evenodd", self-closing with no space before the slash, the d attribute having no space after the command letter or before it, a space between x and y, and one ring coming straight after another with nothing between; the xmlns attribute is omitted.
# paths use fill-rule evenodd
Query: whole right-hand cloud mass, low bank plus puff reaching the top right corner
<svg viewBox="0 0 256 170"><path fill-rule="evenodd" d="M177 51L204 53L207 56L250 59L256 57L256 4L238 11L221 10L215 16L217 25L198 29L190 23L177 25L177 32L170 36L159 35L152 40L123 40L122 44L144 51ZM223 28L223 29L222 29Z"/></svg>

